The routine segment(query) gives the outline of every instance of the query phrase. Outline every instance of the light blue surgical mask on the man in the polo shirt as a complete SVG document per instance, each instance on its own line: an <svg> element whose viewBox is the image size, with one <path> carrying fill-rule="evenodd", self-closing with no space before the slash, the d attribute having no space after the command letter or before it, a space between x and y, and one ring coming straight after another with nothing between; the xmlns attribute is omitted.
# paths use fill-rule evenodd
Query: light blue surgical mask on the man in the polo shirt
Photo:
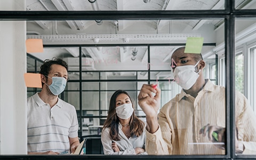
<svg viewBox="0 0 256 160"><path fill-rule="evenodd" d="M48 76L46 76L48 77ZM49 77L51 78L51 77ZM67 84L67 80L64 77L52 77L52 84L48 85L46 83L47 86L49 86L50 91L52 92L52 94L54 95L59 95L61 92L63 92L65 90L66 84Z"/></svg>

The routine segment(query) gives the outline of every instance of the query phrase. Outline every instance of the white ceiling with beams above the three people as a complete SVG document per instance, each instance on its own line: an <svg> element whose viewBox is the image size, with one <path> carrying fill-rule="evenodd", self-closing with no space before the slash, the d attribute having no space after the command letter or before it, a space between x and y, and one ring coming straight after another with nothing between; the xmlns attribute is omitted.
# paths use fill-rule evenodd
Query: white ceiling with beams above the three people
<svg viewBox="0 0 256 160"><path fill-rule="evenodd" d="M27 11L143 12L148 10L222 10L224 3L224 0L150 0L148 3L146 0L27 0L26 7ZM236 1L236 7L246 7L250 3L251 1L239 0ZM106 60L114 61L112 63L117 61L117 64L124 64L124 66L127 63L128 68L131 68L129 64L133 64L133 67L141 65L143 68L145 66L143 64L147 62L147 46L135 47L129 44L185 44L187 37L204 37L204 43L218 43L216 33L220 28L223 30L223 19L102 20L101 24L96 21L27 21L27 38L42 38L44 44L98 45L98 47L83 47L83 57L94 60L94 67L91 69L111 70L106 67ZM99 47L100 44L127 46ZM170 55L176 47L151 47L150 59L170 62ZM209 52L212 48L213 46L203 47L202 54ZM132 60L134 50L137 50L137 54L136 59ZM52 57L77 58L79 49L78 47L48 48L44 49L44 53L35 53L33 56L41 60ZM105 67L102 67L102 64ZM122 68L116 68L117 66L114 65L114 69L122 70Z"/></svg>

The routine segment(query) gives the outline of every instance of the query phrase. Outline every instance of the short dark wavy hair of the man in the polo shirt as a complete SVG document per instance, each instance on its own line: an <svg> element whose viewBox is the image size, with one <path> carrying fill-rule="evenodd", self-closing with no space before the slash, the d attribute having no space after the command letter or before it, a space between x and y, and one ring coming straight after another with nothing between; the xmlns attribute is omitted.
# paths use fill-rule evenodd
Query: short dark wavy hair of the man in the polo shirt
<svg viewBox="0 0 256 160"><path fill-rule="evenodd" d="M61 65L61 66L65 67L68 71L67 62L63 61L62 59L53 57L51 60L50 59L44 60L43 65L41 65L41 67L40 67L39 74L48 76L49 72L52 69L51 68L52 65ZM46 77L46 79L47 79L47 77ZM42 85L43 85L43 83L42 83Z"/></svg>

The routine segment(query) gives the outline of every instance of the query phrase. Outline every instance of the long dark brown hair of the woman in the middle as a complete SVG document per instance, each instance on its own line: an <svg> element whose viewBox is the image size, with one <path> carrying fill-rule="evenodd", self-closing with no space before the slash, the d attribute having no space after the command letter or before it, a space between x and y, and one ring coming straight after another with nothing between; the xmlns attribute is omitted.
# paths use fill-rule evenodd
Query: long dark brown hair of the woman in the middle
<svg viewBox="0 0 256 160"><path fill-rule="evenodd" d="M123 91L123 90L117 90L115 91L115 93L111 96L110 98L110 102L109 102L109 109L108 109L108 116L107 119L103 125L103 130L106 129L107 127L110 129L110 138L118 141L120 140L119 136L118 136L118 124L119 124L119 119L116 115L116 98L119 94L126 94L131 102L132 102L132 107L134 109L133 106L133 101L130 97L130 95ZM142 133L143 133L143 129L144 129L145 124L134 114L134 111L132 113L132 117L130 120L130 131L131 131L131 136L136 136L139 137Z"/></svg>

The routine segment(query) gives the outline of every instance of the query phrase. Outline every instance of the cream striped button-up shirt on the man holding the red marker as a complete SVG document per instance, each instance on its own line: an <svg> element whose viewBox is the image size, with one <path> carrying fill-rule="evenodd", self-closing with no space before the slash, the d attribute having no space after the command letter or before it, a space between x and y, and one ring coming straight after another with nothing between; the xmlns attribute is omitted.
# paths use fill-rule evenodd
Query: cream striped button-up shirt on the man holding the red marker
<svg viewBox="0 0 256 160"><path fill-rule="evenodd" d="M206 80L204 88L194 98L183 90L159 111L159 129L146 132L146 151L150 155L219 155L225 150L213 145L199 130L207 125L225 127L225 87ZM236 127L238 141L245 146L244 153L256 151L256 118L243 94L236 92ZM251 147L249 147L251 146ZM250 152L249 152L250 153ZM256 152L255 152L256 153Z"/></svg>

